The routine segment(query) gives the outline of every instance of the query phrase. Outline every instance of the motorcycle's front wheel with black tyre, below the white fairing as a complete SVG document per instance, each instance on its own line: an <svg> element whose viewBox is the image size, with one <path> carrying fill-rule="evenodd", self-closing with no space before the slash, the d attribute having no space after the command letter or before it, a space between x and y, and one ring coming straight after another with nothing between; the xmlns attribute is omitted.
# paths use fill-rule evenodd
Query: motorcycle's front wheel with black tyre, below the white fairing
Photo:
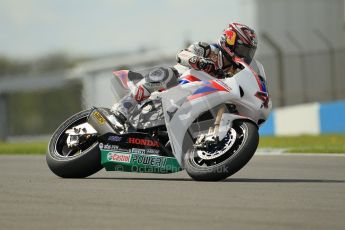
<svg viewBox="0 0 345 230"><path fill-rule="evenodd" d="M248 163L258 144L259 133L255 124L234 121L233 127L219 145L208 150L189 150L184 157L184 167L194 180L223 180Z"/></svg>

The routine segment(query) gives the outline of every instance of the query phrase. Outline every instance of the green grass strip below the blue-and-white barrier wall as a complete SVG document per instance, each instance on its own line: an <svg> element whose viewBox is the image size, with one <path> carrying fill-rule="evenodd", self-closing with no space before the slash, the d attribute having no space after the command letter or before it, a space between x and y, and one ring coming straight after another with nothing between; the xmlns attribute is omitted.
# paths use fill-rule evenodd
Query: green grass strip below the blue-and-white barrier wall
<svg viewBox="0 0 345 230"><path fill-rule="evenodd" d="M290 153L345 153L345 135L261 137L259 148L286 149Z"/></svg>

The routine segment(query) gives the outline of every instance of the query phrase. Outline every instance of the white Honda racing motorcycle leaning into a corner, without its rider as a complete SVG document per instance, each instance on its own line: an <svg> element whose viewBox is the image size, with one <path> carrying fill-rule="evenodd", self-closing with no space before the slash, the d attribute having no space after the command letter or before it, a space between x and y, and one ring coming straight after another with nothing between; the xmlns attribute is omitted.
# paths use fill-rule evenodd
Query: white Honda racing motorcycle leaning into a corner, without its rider
<svg viewBox="0 0 345 230"><path fill-rule="evenodd" d="M240 70L214 78L189 69L179 84L154 92L136 105L126 125L108 108L91 108L68 118L48 145L49 168L63 178L107 171L174 173L194 180L223 180L254 155L259 127L272 107L263 66L236 59ZM138 79L114 72L118 87ZM137 76L137 75L136 75Z"/></svg>

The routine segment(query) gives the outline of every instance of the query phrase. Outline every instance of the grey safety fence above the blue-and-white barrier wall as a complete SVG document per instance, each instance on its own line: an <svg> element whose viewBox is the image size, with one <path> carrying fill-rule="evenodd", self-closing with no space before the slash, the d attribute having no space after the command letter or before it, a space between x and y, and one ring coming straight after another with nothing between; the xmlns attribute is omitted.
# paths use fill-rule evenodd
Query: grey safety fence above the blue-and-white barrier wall
<svg viewBox="0 0 345 230"><path fill-rule="evenodd" d="M345 99L345 49L260 55L275 107Z"/></svg>

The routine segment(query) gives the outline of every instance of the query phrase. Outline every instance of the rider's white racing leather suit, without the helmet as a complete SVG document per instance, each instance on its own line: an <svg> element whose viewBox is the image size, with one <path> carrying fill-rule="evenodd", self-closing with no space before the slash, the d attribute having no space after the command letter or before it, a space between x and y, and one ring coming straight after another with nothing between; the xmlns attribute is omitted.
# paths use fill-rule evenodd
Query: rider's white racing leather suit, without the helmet
<svg viewBox="0 0 345 230"><path fill-rule="evenodd" d="M154 91L166 90L177 85L177 79L187 68L203 70L213 76L216 76L215 73L219 69L230 74L235 71L233 63L228 61L229 58L223 54L217 44L194 43L187 49L181 50L176 59L178 64L174 67L159 67L145 76L141 75L142 79L130 87L130 94L116 103L112 111L120 116L121 120L127 120L137 103L149 98Z"/></svg>

